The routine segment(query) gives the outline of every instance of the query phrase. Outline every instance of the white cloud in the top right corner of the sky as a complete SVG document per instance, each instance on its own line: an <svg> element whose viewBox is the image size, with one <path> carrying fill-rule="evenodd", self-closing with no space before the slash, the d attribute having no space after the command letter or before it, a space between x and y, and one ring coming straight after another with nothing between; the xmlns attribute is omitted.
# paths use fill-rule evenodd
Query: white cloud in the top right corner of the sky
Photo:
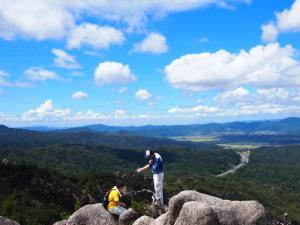
<svg viewBox="0 0 300 225"><path fill-rule="evenodd" d="M275 22L262 26L262 39L275 41L279 33L300 32L300 0L295 0L290 9L276 13Z"/></svg>

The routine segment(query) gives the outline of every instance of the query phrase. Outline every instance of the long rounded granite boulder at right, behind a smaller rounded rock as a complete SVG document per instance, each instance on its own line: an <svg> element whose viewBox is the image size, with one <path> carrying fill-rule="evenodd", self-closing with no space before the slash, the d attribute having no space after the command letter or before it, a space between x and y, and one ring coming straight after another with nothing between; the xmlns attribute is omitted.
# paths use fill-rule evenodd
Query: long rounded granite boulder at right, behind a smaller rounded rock
<svg viewBox="0 0 300 225"><path fill-rule="evenodd" d="M229 201L217 197L202 194L196 191L183 191L172 197L169 202L168 216L165 225L175 224L177 219L184 217L184 213L188 215L190 210L193 214L193 207L187 204L181 215L182 208L185 203L195 201L193 207L198 205L203 209L203 205L211 208L217 215L221 225L264 225L267 224L267 216L264 207L257 201ZM198 203L197 203L198 202ZM197 208L198 208L197 207ZM204 209L203 209L204 210ZM207 209L211 211L210 209ZM203 212L207 212L204 210ZM201 213L195 213L198 216L203 216ZM180 218L178 218L181 216ZM189 223L184 223L188 225Z"/></svg>

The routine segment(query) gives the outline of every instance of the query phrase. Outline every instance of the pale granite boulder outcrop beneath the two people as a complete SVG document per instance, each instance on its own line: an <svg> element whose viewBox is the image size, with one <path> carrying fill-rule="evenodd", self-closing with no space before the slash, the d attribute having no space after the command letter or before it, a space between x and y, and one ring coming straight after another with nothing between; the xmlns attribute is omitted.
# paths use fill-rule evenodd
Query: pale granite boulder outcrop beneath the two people
<svg viewBox="0 0 300 225"><path fill-rule="evenodd" d="M133 210L120 218L108 213L102 204L86 205L67 221L55 225L267 225L264 207L257 201L229 201L183 191L169 201L168 212L154 219L137 219Z"/></svg>

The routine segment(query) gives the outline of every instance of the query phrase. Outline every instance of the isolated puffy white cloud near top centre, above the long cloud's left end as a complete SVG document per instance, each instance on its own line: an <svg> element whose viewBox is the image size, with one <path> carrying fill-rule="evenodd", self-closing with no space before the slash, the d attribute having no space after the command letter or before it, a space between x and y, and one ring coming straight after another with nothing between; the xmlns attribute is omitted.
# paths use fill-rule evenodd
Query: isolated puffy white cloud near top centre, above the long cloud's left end
<svg viewBox="0 0 300 225"><path fill-rule="evenodd" d="M167 52L168 48L165 36L158 33L150 33L140 43L134 44L132 52L161 54Z"/></svg>

